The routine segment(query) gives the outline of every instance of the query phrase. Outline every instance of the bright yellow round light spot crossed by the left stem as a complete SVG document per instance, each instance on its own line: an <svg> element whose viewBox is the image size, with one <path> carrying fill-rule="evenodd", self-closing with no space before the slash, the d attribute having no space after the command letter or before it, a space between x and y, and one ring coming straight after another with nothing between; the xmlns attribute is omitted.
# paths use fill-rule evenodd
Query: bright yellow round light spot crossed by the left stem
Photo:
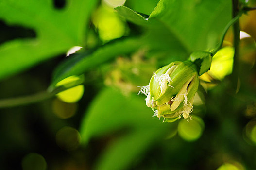
<svg viewBox="0 0 256 170"><path fill-rule="evenodd" d="M65 85L65 84L77 81L79 79L80 78L77 76L70 76L58 82L56 86ZM68 90L58 93L56 96L64 102L74 103L79 101L82 98L83 94L84 94L84 85L77 85L75 87L69 88Z"/></svg>

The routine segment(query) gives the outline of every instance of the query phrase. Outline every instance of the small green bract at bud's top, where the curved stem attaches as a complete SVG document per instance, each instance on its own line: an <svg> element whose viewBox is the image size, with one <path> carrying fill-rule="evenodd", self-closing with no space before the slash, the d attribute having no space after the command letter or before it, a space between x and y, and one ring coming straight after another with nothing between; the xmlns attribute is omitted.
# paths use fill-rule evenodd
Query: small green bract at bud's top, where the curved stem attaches
<svg viewBox="0 0 256 170"><path fill-rule="evenodd" d="M189 60L197 66L198 75L201 76L211 67L212 53L207 51L195 51L190 55Z"/></svg>

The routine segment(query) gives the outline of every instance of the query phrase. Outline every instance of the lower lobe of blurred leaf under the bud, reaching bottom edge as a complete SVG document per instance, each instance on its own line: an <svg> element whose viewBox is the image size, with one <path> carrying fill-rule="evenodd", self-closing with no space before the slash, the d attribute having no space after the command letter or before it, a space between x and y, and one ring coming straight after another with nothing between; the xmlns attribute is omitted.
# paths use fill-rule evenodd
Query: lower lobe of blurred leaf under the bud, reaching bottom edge
<svg viewBox="0 0 256 170"><path fill-rule="evenodd" d="M153 144L163 139L166 131L149 128L137 130L114 141L101 155L96 170L123 170L132 162L142 158L143 153ZM121 156L120 156L121 155Z"/></svg>

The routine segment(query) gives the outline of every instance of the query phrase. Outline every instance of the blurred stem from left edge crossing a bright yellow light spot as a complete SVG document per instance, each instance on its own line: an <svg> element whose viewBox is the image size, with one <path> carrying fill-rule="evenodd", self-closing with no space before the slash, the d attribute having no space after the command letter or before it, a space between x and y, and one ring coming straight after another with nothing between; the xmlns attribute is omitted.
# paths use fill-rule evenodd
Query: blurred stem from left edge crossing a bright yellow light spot
<svg viewBox="0 0 256 170"><path fill-rule="evenodd" d="M76 82L68 83L63 86L59 86L54 90L52 90L51 92L43 91L33 95L21 96L21 97L10 98L10 99L2 99L0 100L0 108L15 107L19 105L26 105L26 104L31 104L35 102L40 102L40 101L52 98L56 94L64 90L80 85L81 83L83 83L82 81L76 81Z"/></svg>

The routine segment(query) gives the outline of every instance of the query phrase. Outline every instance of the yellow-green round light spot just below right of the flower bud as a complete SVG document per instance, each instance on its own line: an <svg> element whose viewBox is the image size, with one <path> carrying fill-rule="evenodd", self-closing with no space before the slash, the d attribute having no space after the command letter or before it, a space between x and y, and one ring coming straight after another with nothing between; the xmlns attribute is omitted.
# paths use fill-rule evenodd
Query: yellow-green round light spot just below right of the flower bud
<svg viewBox="0 0 256 170"><path fill-rule="evenodd" d="M195 141L202 135L204 127L204 121L201 118L193 115L189 122L187 119L182 119L179 121L178 134L186 141Z"/></svg>

